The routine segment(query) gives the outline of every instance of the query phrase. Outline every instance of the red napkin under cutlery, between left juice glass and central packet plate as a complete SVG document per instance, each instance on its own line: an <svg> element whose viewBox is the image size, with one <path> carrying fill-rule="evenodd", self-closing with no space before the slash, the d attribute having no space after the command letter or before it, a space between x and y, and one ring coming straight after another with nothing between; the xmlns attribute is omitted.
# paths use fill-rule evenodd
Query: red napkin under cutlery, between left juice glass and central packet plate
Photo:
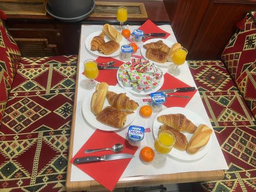
<svg viewBox="0 0 256 192"><path fill-rule="evenodd" d="M109 61L115 61L115 65L114 65L115 67L119 67L123 64L123 61L120 61L113 57L98 57L96 61L97 63L106 63ZM95 80L98 82L106 82L110 86L115 86L118 83L116 78L116 73L117 73L117 69L99 70L99 75Z"/></svg>

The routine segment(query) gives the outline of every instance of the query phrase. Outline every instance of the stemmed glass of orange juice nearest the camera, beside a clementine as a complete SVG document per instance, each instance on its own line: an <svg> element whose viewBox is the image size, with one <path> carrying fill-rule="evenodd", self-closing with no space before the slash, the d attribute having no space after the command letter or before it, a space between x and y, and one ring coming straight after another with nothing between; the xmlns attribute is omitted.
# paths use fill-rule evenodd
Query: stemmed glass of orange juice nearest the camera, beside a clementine
<svg viewBox="0 0 256 192"><path fill-rule="evenodd" d="M166 159L166 154L172 151L173 145L175 144L175 136L172 132L162 131L158 134L154 142L156 154L154 161L162 163Z"/></svg>

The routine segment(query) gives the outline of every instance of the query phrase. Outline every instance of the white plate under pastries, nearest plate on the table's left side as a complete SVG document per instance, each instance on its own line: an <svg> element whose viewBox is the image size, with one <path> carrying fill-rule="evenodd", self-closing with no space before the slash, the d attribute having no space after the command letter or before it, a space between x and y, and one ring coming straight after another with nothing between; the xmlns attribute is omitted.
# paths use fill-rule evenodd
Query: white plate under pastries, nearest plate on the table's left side
<svg viewBox="0 0 256 192"><path fill-rule="evenodd" d="M92 95L93 95L94 91L95 90L93 90L89 95L87 95L87 97L84 99L84 101L82 103L82 114L83 114L83 117L92 126L94 126L95 128L97 128L99 130L103 130L103 131L118 131L118 130L121 130L121 129L117 129L117 128L105 125L105 124L97 121L96 116L91 112L91 98L92 98ZM109 86L109 91L113 91L113 92L118 93L118 94L119 93L126 93L126 95L128 97L130 97L130 99L135 100L135 98L133 97L132 94L130 94L129 92L125 91L122 88L115 87L115 86ZM105 99L105 102L104 102L104 105L103 105L103 109L104 109L105 106L110 106L110 104L109 104L107 99ZM130 125L133 122L134 118L136 117L137 110L134 111L133 114L127 115L127 119L126 119L125 125L124 125L124 127L122 129L124 129L125 127L127 127L128 125Z"/></svg>

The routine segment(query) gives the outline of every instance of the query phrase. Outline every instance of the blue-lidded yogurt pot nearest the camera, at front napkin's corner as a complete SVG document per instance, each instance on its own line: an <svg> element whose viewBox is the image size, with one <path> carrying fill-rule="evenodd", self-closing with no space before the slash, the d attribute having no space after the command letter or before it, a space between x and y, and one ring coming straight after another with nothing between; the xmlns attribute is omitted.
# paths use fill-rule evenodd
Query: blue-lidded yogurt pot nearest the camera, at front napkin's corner
<svg viewBox="0 0 256 192"><path fill-rule="evenodd" d="M127 133L127 140L133 146L139 146L144 138L145 129L142 126L130 125Z"/></svg>

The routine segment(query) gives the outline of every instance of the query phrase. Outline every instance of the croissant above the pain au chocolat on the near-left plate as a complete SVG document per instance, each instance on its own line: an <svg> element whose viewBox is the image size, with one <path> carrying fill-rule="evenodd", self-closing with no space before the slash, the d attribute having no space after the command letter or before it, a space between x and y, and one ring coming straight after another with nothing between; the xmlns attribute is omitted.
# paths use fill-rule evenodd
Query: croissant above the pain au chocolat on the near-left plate
<svg viewBox="0 0 256 192"><path fill-rule="evenodd" d="M135 111L139 106L137 102L131 100L125 93L116 94L115 92L108 91L106 99L108 99L111 106L119 110Z"/></svg>

